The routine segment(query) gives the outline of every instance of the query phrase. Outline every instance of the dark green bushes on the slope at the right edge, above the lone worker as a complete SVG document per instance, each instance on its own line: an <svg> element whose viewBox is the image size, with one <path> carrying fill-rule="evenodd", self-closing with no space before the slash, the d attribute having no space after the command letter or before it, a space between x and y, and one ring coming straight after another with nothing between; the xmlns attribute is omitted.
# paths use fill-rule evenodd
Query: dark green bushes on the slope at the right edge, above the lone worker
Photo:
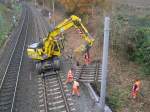
<svg viewBox="0 0 150 112"><path fill-rule="evenodd" d="M141 74L150 75L150 15L130 17L129 22L134 25L132 37L128 38L129 59L141 65Z"/></svg>

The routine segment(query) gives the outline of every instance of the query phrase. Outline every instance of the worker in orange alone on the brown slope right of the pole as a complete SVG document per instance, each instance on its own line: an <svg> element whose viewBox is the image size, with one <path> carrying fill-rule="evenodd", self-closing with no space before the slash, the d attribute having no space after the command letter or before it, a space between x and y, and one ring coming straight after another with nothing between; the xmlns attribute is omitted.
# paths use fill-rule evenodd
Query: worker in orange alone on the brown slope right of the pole
<svg viewBox="0 0 150 112"><path fill-rule="evenodd" d="M135 83L133 84L133 87L132 87L132 97L133 97L133 99L135 99L137 97L138 92L140 90L140 86L141 86L141 81L136 80Z"/></svg>

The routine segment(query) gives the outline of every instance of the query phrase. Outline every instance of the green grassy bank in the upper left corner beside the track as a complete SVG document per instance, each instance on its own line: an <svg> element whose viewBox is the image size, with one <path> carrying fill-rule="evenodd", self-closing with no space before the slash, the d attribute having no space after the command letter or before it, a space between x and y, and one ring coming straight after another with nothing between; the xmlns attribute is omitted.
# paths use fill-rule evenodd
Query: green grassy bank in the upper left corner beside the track
<svg viewBox="0 0 150 112"><path fill-rule="evenodd" d="M0 4L0 47L4 44L8 37L8 33L12 28L12 16L15 15L16 19L19 17L18 14L21 12L21 6L15 4L13 9L10 10L5 5Z"/></svg>

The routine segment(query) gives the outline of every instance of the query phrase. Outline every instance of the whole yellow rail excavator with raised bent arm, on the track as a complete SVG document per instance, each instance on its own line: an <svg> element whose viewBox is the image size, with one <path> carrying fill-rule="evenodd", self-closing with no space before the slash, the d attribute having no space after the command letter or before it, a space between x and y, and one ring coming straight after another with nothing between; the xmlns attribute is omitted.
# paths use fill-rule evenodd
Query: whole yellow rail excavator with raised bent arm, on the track
<svg viewBox="0 0 150 112"><path fill-rule="evenodd" d="M36 69L38 72L41 73L50 69L54 71L60 70L60 56L61 50L64 48L64 38L58 38L58 36L71 27L75 27L80 31L81 37L85 40L85 44L81 45L75 51L85 53L91 48L94 39L81 23L81 19L72 15L52 29L42 42L28 46L27 54L31 59L36 61Z"/></svg>

